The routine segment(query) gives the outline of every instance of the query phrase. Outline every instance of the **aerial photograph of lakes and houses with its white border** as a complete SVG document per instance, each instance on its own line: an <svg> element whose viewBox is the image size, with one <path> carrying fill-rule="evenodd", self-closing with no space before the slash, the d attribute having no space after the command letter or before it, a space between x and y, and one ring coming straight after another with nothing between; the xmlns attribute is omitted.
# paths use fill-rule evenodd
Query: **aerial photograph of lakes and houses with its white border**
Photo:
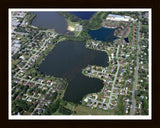
<svg viewBox="0 0 160 128"><path fill-rule="evenodd" d="M9 9L9 115L150 115L150 9Z"/></svg>

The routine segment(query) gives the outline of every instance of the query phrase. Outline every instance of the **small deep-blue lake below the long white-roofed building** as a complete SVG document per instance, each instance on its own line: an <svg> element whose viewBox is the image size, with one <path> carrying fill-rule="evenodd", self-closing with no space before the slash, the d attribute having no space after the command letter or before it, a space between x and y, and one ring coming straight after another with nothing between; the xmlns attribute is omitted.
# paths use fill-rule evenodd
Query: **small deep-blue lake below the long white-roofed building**
<svg viewBox="0 0 160 128"><path fill-rule="evenodd" d="M97 30L89 30L89 35L92 37L92 39L113 42L115 39L118 39L118 37L114 36L114 31L115 29L102 27Z"/></svg>

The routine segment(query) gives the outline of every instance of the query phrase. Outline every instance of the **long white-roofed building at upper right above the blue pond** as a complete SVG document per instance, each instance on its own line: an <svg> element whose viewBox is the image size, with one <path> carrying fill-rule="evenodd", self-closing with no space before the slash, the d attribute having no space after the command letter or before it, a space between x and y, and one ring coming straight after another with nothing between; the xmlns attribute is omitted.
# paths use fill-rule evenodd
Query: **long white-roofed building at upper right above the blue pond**
<svg viewBox="0 0 160 128"><path fill-rule="evenodd" d="M115 20L115 21L136 21L130 16L121 16L121 15L113 15L109 14L106 20Z"/></svg>

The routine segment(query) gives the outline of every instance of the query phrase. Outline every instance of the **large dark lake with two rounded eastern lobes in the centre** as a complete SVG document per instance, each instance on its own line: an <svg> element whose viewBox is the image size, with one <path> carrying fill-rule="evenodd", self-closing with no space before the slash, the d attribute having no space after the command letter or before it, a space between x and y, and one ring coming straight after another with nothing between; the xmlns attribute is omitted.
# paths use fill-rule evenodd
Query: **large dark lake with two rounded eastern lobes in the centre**
<svg viewBox="0 0 160 128"><path fill-rule="evenodd" d="M39 70L44 74L67 78L69 85L64 100L80 103L88 93L99 92L103 88L103 81L81 73L87 65L108 66L107 53L87 49L85 42L62 41L40 64Z"/></svg>

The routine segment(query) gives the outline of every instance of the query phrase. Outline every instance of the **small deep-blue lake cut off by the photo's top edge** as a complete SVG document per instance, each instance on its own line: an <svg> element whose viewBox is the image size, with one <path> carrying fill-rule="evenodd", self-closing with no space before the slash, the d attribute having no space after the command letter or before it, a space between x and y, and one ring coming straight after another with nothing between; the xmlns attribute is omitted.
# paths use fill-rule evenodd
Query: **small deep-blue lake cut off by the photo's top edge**
<svg viewBox="0 0 160 128"><path fill-rule="evenodd" d="M83 20L89 20L96 12L69 12L70 14L76 15Z"/></svg>

